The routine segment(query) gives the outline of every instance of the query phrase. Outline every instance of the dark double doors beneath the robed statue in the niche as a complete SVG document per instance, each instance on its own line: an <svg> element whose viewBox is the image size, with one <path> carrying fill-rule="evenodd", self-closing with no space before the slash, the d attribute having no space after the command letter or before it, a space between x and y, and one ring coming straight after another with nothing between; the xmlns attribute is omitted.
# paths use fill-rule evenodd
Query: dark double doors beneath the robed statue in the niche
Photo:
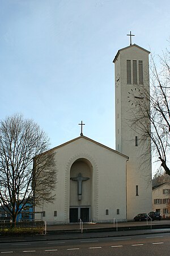
<svg viewBox="0 0 170 256"><path fill-rule="evenodd" d="M81 219L83 222L89 222L90 208L70 208L70 222L79 222Z"/></svg>

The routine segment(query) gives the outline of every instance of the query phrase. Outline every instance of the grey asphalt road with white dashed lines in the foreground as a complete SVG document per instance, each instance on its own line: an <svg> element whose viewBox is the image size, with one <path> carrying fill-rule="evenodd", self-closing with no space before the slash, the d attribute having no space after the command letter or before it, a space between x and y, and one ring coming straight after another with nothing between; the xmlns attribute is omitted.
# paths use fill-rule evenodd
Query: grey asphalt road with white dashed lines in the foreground
<svg viewBox="0 0 170 256"><path fill-rule="evenodd" d="M75 240L1 243L1 255L163 255L169 256L170 233Z"/></svg>

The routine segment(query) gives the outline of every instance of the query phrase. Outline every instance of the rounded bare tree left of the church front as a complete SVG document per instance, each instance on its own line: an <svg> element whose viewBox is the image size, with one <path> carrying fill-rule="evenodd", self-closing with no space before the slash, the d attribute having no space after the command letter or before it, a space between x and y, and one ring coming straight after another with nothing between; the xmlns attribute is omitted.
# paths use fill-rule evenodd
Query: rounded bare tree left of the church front
<svg viewBox="0 0 170 256"><path fill-rule="evenodd" d="M0 203L13 222L30 201L54 199L57 172L54 153L43 154L48 148L47 135L31 119L15 114L0 121Z"/></svg>

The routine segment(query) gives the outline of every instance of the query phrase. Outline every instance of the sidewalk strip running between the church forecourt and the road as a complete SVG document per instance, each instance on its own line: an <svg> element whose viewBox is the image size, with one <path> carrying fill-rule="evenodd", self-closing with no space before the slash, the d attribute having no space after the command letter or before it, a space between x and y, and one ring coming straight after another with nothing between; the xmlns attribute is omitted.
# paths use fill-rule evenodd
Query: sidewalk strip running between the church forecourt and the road
<svg viewBox="0 0 170 256"><path fill-rule="evenodd" d="M145 222L121 222L118 223L118 229L113 227L113 224L111 223L84 224L83 226L83 233L81 233L81 230L79 229L79 224L47 226L46 236L42 235L29 237L0 237L0 243L71 240L102 237L136 236L139 234L141 235L170 233L170 221L154 221L152 222L152 229L150 225L146 226Z"/></svg>

